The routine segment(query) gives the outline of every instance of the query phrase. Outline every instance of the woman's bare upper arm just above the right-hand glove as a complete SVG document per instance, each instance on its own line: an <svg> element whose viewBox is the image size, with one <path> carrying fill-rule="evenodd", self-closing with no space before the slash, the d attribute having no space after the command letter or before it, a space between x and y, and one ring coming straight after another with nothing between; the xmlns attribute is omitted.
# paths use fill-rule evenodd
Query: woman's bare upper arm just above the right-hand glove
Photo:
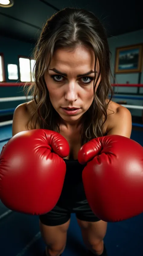
<svg viewBox="0 0 143 256"><path fill-rule="evenodd" d="M121 135L130 138L132 115L127 108L119 106L115 114L108 116L107 135Z"/></svg>

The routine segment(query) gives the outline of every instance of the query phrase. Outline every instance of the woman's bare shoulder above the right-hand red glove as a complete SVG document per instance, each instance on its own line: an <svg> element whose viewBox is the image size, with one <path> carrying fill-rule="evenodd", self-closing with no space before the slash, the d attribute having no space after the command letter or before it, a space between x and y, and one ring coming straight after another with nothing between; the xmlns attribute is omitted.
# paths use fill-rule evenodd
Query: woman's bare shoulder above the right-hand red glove
<svg viewBox="0 0 143 256"><path fill-rule="evenodd" d="M132 131L131 112L120 104L110 101L107 109L106 131L107 134L130 137Z"/></svg>

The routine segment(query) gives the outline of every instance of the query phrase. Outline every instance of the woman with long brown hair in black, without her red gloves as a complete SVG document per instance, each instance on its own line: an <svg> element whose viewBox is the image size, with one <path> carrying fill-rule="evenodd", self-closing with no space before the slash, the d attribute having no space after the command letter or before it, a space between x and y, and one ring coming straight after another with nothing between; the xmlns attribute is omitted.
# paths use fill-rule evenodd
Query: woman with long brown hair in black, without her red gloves
<svg viewBox="0 0 143 256"><path fill-rule="evenodd" d="M13 135L27 129L58 131L69 143L66 177L54 209L40 216L46 243L44 255L59 256L65 249L70 214L76 213L88 255L106 256L103 244L107 223L89 207L82 183L78 151L85 142L104 135L130 138L130 112L108 100L110 51L105 30L93 13L66 8L44 26L35 54L34 100L19 105ZM101 202L102 203L102 202Z"/></svg>

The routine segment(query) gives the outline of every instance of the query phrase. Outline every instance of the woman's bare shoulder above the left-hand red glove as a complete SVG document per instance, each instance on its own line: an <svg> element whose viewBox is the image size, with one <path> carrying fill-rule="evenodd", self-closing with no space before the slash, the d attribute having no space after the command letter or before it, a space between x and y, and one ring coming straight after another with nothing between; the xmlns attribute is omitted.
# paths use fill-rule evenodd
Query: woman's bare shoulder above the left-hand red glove
<svg viewBox="0 0 143 256"><path fill-rule="evenodd" d="M13 115L12 134L15 135L20 131L30 130L28 125L30 119L36 111L36 105L33 101L29 101L17 106ZM33 118L33 122L35 117Z"/></svg>

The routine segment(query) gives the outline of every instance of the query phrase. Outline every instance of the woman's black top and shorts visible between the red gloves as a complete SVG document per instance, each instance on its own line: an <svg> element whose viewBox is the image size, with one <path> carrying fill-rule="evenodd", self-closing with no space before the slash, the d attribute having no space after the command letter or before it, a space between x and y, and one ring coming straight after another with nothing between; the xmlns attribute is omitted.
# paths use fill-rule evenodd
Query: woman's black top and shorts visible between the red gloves
<svg viewBox="0 0 143 256"><path fill-rule="evenodd" d="M62 225L70 219L71 213L75 213L79 220L99 221L86 199L82 182L84 166L79 164L78 160L64 160L66 175L61 196L52 211L40 215L41 222L47 226Z"/></svg>

